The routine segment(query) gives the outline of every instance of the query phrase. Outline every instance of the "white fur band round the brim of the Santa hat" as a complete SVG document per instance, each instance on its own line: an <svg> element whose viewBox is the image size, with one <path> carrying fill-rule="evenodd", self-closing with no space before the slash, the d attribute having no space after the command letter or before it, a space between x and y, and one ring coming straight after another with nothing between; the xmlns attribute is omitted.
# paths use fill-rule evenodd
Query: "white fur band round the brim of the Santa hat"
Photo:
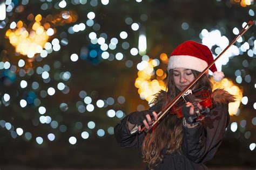
<svg viewBox="0 0 256 170"><path fill-rule="evenodd" d="M208 66L205 60L201 60L190 55L172 55L170 56L167 70L174 68L186 68L197 70L198 72L203 72L203 70Z"/></svg>

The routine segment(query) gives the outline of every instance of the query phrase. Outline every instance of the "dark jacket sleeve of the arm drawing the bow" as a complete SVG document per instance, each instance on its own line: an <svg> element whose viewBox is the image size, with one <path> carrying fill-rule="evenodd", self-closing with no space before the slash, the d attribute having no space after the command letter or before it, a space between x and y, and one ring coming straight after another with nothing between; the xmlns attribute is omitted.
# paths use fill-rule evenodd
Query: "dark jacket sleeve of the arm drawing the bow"
<svg viewBox="0 0 256 170"><path fill-rule="evenodd" d="M130 114L131 115L131 114ZM127 122L130 115L123 118L116 126L114 126L114 137L117 143L122 147L140 147L145 138L145 132L131 134Z"/></svg>

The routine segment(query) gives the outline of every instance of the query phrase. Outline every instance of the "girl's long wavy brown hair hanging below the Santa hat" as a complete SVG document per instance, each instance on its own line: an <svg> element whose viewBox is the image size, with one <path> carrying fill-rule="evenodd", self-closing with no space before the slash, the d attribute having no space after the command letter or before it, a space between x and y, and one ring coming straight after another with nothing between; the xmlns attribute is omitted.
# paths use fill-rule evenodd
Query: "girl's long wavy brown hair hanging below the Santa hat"
<svg viewBox="0 0 256 170"><path fill-rule="evenodd" d="M195 77L199 74L196 70L192 70L192 73ZM206 74L197 82L196 88L199 87L205 87L204 89L212 91L212 83ZM173 70L171 69L167 77L166 91L162 90L156 94L152 102L154 104L152 109L159 112L178 93L180 91L174 85ZM182 154L180 148L183 138L181 122L182 120L176 115L167 113L155 129L151 133L147 133L142 145L142 154L144 162L147 162L150 169L159 165L165 154Z"/></svg>

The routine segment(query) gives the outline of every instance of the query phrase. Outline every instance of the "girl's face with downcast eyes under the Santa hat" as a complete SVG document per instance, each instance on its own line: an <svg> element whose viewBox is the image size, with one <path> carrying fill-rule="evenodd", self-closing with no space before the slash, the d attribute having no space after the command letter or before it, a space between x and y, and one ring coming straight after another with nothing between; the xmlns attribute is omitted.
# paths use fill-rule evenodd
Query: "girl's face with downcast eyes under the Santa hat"
<svg viewBox="0 0 256 170"><path fill-rule="evenodd" d="M175 86L182 91L195 79L191 69L175 68L173 69L173 81Z"/></svg>

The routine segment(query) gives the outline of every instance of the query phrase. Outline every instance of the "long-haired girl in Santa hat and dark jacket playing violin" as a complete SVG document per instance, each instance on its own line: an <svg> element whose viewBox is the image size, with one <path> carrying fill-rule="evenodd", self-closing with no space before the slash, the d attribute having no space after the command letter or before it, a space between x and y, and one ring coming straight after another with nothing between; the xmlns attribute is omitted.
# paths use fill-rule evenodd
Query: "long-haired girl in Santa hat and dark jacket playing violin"
<svg viewBox="0 0 256 170"><path fill-rule="evenodd" d="M158 119L157 112L165 107L180 93L208 64L213 56L208 47L194 41L186 41L172 52L167 70L166 91L160 91L153 106L149 110L132 112L114 127L114 135L122 147L141 147L143 160L149 169L207 169L204 162L213 158L229 123L228 103L234 102L234 97L226 91L217 89L212 92L212 84L208 73L204 74L192 90L204 89L211 91L213 106L201 122L192 122L194 106L187 102L182 109L183 118L171 111L161 119L160 123L150 132L133 133L138 126L150 128ZM222 72L216 72L213 65L210 70L214 80L223 78ZM198 104L198 108L204 108Z"/></svg>

